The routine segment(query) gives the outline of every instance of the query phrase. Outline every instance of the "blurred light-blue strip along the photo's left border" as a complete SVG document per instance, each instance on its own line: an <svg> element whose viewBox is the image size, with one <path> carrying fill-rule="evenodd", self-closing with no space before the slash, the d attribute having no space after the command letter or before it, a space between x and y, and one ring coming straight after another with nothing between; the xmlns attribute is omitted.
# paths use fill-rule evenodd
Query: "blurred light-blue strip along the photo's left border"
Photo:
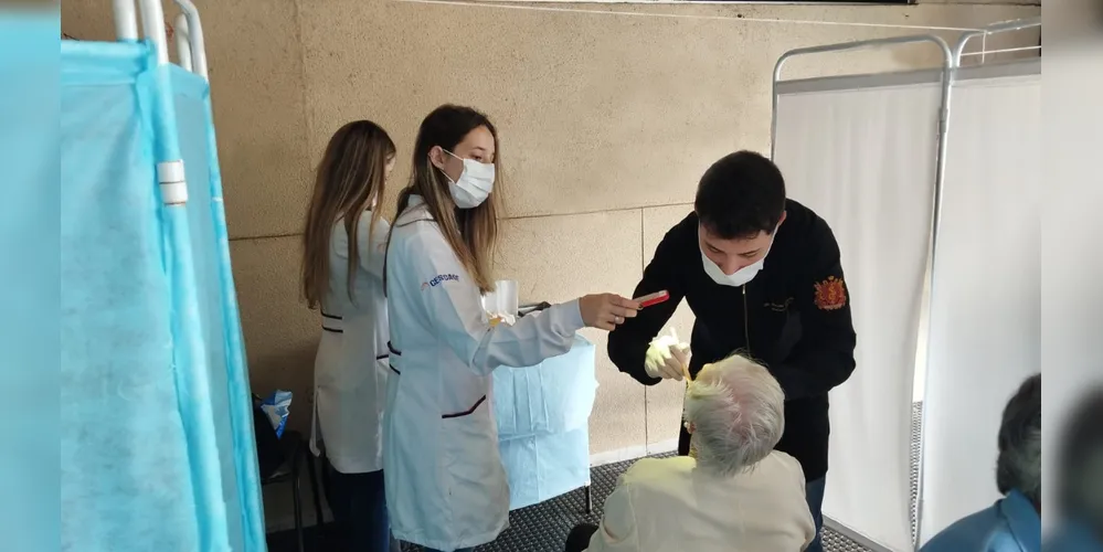
<svg viewBox="0 0 1103 552"><path fill-rule="evenodd" d="M0 7L0 534L56 550L61 128L57 13Z"/></svg>

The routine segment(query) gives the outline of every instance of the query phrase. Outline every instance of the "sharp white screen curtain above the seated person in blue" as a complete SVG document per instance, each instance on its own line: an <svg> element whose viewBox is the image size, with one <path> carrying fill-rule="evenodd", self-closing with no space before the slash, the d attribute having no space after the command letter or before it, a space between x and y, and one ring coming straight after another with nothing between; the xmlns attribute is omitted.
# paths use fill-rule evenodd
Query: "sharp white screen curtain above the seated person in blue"
<svg viewBox="0 0 1103 552"><path fill-rule="evenodd" d="M1041 78L954 86L924 399L922 542L990 506L1007 400L1040 364Z"/></svg>

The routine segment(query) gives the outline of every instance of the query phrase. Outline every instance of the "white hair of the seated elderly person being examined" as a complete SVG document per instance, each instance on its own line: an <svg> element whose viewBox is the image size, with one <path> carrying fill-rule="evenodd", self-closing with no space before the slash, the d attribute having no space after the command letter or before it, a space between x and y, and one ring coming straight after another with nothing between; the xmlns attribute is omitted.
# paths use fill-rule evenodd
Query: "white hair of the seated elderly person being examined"
<svg viewBox="0 0 1103 552"><path fill-rule="evenodd" d="M761 364L732 355L704 367L686 392L698 465L723 476L752 468L785 431L785 394Z"/></svg>

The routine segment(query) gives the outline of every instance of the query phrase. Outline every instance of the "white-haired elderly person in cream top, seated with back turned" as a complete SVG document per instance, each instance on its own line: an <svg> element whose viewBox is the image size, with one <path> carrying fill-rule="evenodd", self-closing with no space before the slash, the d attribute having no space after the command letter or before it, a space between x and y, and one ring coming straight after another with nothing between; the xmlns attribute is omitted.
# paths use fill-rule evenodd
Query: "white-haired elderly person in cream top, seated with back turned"
<svg viewBox="0 0 1103 552"><path fill-rule="evenodd" d="M706 365L686 392L696 459L634 464L605 501L601 527L576 527L568 552L804 550L816 535L804 473L773 450L784 401L770 372L743 357Z"/></svg>

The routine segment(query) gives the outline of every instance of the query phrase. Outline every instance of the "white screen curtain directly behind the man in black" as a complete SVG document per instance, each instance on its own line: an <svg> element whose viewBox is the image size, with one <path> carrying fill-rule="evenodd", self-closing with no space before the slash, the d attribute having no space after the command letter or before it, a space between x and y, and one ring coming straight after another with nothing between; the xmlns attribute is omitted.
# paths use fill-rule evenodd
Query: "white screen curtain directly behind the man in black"
<svg viewBox="0 0 1103 552"><path fill-rule="evenodd" d="M858 332L831 393L824 514L911 550L910 425L930 244L940 87L782 92L774 160L788 195L835 231Z"/></svg>

